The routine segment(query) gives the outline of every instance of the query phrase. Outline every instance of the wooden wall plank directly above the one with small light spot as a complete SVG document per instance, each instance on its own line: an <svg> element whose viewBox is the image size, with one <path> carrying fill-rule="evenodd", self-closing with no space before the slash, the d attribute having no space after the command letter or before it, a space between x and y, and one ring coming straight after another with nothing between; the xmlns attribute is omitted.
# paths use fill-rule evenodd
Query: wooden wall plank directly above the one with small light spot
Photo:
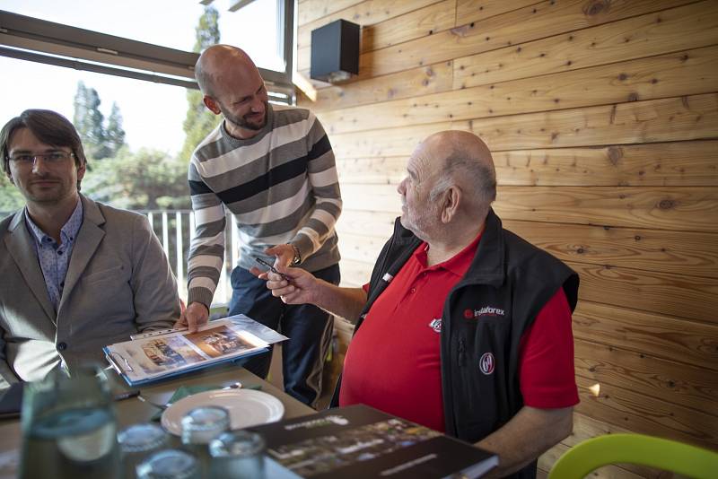
<svg viewBox="0 0 718 479"><path fill-rule="evenodd" d="M718 371L582 339L574 340L574 352L576 374L583 378L718 416L710 407L718 397Z"/></svg>

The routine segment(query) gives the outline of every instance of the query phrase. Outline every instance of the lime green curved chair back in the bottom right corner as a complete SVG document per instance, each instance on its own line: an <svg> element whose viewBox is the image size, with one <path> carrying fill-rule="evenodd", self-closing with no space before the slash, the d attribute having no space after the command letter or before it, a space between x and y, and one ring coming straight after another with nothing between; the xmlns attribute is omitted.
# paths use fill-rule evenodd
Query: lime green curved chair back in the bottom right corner
<svg viewBox="0 0 718 479"><path fill-rule="evenodd" d="M583 478L600 466L617 463L656 467L698 479L718 477L718 452L643 434L609 434L567 450L551 468L548 479Z"/></svg>

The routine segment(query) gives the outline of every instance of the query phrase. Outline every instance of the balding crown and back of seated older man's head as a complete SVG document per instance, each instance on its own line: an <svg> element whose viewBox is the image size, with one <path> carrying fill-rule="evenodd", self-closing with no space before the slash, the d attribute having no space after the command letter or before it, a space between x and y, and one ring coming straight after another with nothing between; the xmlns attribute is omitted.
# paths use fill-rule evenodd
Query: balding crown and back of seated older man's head
<svg viewBox="0 0 718 479"><path fill-rule="evenodd" d="M430 198L441 195L451 185L459 185L473 200L474 207L488 210L496 197L496 170L486 144L466 131L435 133L421 144L425 155L439 169L440 179Z"/></svg>

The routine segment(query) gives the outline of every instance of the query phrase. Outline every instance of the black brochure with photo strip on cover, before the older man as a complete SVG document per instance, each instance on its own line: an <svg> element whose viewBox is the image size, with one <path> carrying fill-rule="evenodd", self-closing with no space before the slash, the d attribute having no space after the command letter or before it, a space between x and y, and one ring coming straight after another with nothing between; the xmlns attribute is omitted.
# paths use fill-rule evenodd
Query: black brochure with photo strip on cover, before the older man
<svg viewBox="0 0 718 479"><path fill-rule="evenodd" d="M350 405L250 428L267 456L299 477L476 478L498 457L367 405ZM284 476L283 476L284 477Z"/></svg>

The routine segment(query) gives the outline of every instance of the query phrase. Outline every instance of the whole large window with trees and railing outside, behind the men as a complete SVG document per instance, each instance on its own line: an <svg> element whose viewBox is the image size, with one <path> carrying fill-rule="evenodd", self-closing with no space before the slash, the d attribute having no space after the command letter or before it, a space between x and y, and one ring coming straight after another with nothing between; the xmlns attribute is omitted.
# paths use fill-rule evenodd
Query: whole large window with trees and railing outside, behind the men
<svg viewBox="0 0 718 479"><path fill-rule="evenodd" d="M257 62L271 100L293 102L291 48L285 48L292 41L293 2L255 0L234 12L236 0L204 3L215 13L188 0L5 0L0 11L0 126L31 108L73 121L91 166L83 193L150 218L183 297L194 226L188 155L219 119L205 112L191 69L198 33L206 45L215 43L214 27L206 23L215 22L221 42L244 48ZM197 32L200 25L204 30ZM106 134L101 142L79 126L78 115L87 115L80 105ZM206 121L190 122L193 111ZM3 176L0 218L23 204ZM236 232L228 228L226 237L215 293L220 303L232 292L227 278L238 251Z"/></svg>

